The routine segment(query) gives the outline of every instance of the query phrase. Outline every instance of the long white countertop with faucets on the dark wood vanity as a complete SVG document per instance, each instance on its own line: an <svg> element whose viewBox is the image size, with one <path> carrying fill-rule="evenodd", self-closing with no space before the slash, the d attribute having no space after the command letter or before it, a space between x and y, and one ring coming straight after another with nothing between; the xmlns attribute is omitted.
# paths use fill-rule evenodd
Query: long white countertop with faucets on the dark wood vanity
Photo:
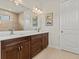
<svg viewBox="0 0 79 59"><path fill-rule="evenodd" d="M14 32L14 34L3 34L3 35L0 35L0 41L3 41L3 40L9 40L9 39L12 39L12 38L18 38L18 37L23 37L23 36L31 36L31 35L36 35L36 34L41 34L41 33L48 33L48 31L40 31L40 32L37 32L37 31L23 31L23 32Z"/></svg>

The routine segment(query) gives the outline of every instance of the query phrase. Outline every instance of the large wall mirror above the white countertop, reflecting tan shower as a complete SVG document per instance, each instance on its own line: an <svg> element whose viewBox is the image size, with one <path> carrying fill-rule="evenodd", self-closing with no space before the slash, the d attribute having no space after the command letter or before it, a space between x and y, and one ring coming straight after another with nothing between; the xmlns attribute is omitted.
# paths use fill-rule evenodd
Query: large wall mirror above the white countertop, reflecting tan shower
<svg viewBox="0 0 79 59"><path fill-rule="evenodd" d="M31 9L16 5L10 0L0 0L0 31L32 30L33 26L38 27L38 17L32 18L32 16Z"/></svg>

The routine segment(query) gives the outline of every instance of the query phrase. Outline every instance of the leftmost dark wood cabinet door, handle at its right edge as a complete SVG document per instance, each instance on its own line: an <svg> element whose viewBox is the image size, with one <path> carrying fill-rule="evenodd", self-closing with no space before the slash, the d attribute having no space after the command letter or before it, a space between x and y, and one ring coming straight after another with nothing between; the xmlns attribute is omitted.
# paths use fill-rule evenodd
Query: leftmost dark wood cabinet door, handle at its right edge
<svg viewBox="0 0 79 59"><path fill-rule="evenodd" d="M18 45L6 45L1 59L19 59Z"/></svg>

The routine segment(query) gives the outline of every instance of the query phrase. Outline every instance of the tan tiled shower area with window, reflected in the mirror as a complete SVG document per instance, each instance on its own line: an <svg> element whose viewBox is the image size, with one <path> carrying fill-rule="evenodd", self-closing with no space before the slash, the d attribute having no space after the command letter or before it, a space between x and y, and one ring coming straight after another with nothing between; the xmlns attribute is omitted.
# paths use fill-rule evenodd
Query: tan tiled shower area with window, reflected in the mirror
<svg viewBox="0 0 79 59"><path fill-rule="evenodd" d="M9 29L21 30L18 17L18 13L0 9L0 31L8 31Z"/></svg>

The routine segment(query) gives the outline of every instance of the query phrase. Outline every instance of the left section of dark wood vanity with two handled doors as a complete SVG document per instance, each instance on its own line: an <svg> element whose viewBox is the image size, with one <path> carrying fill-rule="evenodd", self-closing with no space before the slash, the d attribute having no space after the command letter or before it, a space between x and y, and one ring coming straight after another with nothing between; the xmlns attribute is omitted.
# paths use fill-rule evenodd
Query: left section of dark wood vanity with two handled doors
<svg viewBox="0 0 79 59"><path fill-rule="evenodd" d="M30 59L30 37L2 41L1 59Z"/></svg>

